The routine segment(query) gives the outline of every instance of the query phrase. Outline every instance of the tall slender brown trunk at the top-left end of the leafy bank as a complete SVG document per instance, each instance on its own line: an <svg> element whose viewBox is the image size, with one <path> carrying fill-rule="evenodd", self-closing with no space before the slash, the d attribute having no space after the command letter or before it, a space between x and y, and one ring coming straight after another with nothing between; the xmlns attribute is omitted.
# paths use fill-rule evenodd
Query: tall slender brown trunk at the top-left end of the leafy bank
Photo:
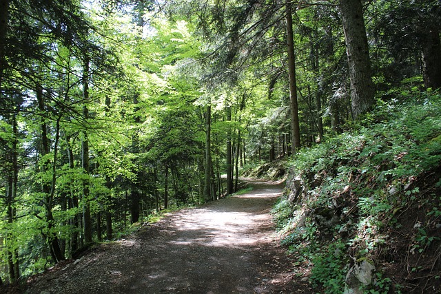
<svg viewBox="0 0 441 294"><path fill-rule="evenodd" d="M292 30L291 3L286 4L287 52L289 73L289 102L291 109L291 153L296 154L300 148L300 122L298 118L298 98L296 84L296 55L294 54L294 34Z"/></svg>

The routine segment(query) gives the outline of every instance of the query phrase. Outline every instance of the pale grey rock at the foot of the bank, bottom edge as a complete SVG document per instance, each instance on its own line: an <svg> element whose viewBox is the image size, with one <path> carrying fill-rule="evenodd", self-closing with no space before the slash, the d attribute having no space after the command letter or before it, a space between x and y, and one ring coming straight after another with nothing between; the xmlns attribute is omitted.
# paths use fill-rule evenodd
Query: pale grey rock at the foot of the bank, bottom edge
<svg viewBox="0 0 441 294"><path fill-rule="evenodd" d="M372 275L375 266L370 260L363 260L360 264L354 264L346 275L344 294L363 294L360 286L368 286L372 283Z"/></svg>

